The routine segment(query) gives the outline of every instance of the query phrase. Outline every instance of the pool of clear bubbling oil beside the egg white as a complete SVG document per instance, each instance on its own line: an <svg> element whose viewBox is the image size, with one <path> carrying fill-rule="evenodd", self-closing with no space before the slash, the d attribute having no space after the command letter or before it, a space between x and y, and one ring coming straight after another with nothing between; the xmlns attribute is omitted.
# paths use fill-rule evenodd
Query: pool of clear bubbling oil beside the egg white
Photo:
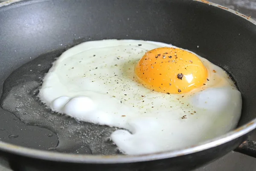
<svg viewBox="0 0 256 171"><path fill-rule="evenodd" d="M58 144L50 151L81 154L122 154L111 142L110 134L117 128L79 122L47 108L38 98L42 78L52 62L64 49L48 52L24 64L6 79L0 105L26 125L47 128L58 136ZM17 135L13 135L12 139ZM18 137L16 137L18 138Z"/></svg>

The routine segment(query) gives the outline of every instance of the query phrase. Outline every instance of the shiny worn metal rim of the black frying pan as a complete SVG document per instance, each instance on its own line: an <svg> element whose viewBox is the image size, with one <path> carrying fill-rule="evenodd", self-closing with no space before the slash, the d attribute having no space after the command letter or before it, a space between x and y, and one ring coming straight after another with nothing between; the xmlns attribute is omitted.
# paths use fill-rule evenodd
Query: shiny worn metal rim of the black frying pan
<svg viewBox="0 0 256 171"><path fill-rule="evenodd" d="M0 8L3 6L9 6L13 3L17 3L20 1L25 1L25 0L9 0L9 1L0 3ZM228 9L216 3L211 3L207 0L193 0L193 1L198 1L199 3L205 3L205 4L208 4L209 6L215 6L216 8L226 10L256 25L255 20L251 19L250 17L247 17L244 14L236 12L232 9ZM12 145L10 143L1 142L1 141L0 141L0 151L9 152L11 154L17 154L24 157L31 157L36 159L58 161L58 162L95 163L95 164L145 162L145 161L151 161L151 160L157 160L157 159L178 157L182 155L187 155L187 154L192 154L195 152L207 150L209 148L213 148L218 145L237 139L240 136L243 136L249 133L250 131L254 130L255 128L256 128L256 118L251 120L247 124L242 125L239 128L236 128L235 130L232 130L214 139L209 139L208 141L201 142L196 146L181 148L181 149L172 150L172 151L164 151L164 152L154 153L154 154L144 154L144 155L102 156L102 155L84 155L84 154L63 154L58 152L41 151L37 149L26 148L26 147Z"/></svg>

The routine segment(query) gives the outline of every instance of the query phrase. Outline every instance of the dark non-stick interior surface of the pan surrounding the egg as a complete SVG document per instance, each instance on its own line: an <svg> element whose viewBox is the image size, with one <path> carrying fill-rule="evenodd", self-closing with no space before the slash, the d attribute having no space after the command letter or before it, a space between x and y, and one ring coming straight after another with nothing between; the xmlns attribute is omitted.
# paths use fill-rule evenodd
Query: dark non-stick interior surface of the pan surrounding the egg
<svg viewBox="0 0 256 171"><path fill-rule="evenodd" d="M0 138L4 142L66 153L121 153L108 139L104 141L116 128L79 124L51 113L36 99L41 78L52 61L69 47L89 40L142 39L189 49L235 79L243 96L239 125L255 118L253 23L223 9L186 0L79 0L75 4L58 0L54 4L51 0L25 0L0 8L0 16L5 17L0 18L0 103L8 109L0 109ZM45 128L57 129L58 136Z"/></svg>

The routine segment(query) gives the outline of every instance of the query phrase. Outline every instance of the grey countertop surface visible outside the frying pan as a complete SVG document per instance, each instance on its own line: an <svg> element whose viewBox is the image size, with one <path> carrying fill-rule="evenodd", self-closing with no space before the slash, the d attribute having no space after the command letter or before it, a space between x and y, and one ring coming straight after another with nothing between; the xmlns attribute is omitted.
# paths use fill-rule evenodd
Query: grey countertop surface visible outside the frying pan
<svg viewBox="0 0 256 171"><path fill-rule="evenodd" d="M2 2L4 0L0 0ZM247 16L256 19L256 0L210 0L230 9L234 9ZM256 141L256 131L251 135L250 139ZM0 166L0 171L10 171ZM256 159L248 157L244 154L230 152L226 156L204 166L195 171L256 171Z"/></svg>

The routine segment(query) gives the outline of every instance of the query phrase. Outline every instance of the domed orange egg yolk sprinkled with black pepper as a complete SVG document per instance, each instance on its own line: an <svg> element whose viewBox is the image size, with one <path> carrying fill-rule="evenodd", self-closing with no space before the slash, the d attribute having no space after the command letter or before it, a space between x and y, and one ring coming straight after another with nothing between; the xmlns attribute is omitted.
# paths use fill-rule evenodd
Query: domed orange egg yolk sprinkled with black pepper
<svg viewBox="0 0 256 171"><path fill-rule="evenodd" d="M161 47L145 53L135 73L145 87L162 93L187 93L207 82L208 70L191 52Z"/></svg>

